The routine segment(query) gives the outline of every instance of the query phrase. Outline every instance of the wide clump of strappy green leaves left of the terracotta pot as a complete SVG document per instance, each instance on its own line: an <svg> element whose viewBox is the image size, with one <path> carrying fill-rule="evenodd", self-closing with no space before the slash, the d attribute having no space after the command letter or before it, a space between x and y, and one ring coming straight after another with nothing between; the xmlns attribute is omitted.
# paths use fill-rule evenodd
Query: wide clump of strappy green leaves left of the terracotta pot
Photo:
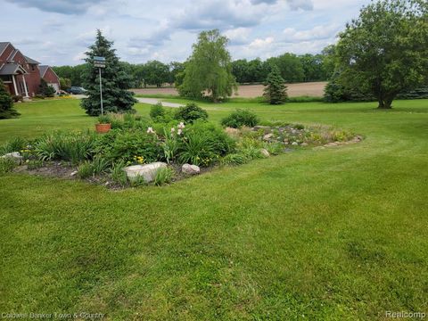
<svg viewBox="0 0 428 321"><path fill-rule="evenodd" d="M53 131L34 143L34 151L41 161L70 161L77 164L93 156L94 133Z"/></svg>

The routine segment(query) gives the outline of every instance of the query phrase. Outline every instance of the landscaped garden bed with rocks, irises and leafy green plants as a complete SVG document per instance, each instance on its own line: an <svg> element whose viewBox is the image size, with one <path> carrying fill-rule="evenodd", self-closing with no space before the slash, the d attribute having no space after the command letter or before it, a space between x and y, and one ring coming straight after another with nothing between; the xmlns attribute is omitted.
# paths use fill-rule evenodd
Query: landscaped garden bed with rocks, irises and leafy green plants
<svg viewBox="0 0 428 321"><path fill-rule="evenodd" d="M152 106L151 119L110 114L105 134L52 131L34 140L4 144L0 171L82 179L111 188L164 185L218 166L238 166L299 148L357 143L360 136L327 126L263 123L235 111L223 128L194 104L174 113ZM228 127L226 127L228 126Z"/></svg>

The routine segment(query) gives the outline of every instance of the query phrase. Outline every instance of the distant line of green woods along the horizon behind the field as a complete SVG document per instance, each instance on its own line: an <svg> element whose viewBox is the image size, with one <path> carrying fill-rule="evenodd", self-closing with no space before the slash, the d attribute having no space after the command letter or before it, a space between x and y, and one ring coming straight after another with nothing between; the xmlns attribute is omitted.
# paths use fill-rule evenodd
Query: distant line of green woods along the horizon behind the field
<svg viewBox="0 0 428 321"><path fill-rule="evenodd" d="M231 71L239 84L263 83L272 70L272 66L279 69L281 76L288 83L325 81L333 74L331 51L329 46L318 54L284 53L266 61L259 58L239 59L231 63ZM177 75L185 70L186 65L186 62L163 63L156 60L145 63L119 63L121 68L131 76L131 83L135 88L173 86L176 83ZM62 86L68 87L82 86L82 75L86 68L86 63L83 63L77 66L57 66L53 67L53 70L60 78L63 78Z"/></svg>

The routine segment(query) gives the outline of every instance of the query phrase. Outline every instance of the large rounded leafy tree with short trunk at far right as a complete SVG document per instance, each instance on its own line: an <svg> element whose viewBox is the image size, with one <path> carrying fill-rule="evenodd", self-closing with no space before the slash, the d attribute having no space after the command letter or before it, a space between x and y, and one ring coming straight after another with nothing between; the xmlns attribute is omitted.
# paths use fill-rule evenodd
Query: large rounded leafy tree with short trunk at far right
<svg viewBox="0 0 428 321"><path fill-rule="evenodd" d="M427 4L381 0L361 9L340 34L336 53L342 81L373 94L380 109L424 84L428 74Z"/></svg>

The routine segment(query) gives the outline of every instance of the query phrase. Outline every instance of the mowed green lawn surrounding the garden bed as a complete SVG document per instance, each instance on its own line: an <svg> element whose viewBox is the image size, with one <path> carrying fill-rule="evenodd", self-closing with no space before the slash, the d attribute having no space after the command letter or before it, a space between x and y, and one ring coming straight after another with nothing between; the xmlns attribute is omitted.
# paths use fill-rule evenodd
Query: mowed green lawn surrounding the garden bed
<svg viewBox="0 0 428 321"><path fill-rule="evenodd" d="M133 320L385 319L428 312L428 101L204 105L212 121L323 123L360 144L303 149L113 192L0 177L0 311ZM78 102L19 105L0 141L92 128ZM147 115L150 106L139 104Z"/></svg>

